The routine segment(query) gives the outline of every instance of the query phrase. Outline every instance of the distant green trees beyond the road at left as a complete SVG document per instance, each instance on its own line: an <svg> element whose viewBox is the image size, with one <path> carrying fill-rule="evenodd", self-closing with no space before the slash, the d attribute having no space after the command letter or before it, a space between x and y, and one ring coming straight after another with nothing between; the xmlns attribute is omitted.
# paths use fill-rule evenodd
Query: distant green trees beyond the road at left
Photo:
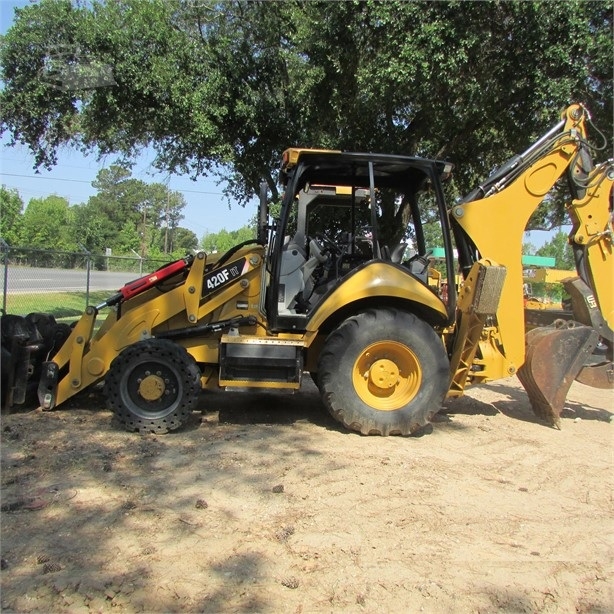
<svg viewBox="0 0 614 614"><path fill-rule="evenodd" d="M0 189L0 237L11 246L115 255L181 257L198 246L196 235L179 222L183 195L161 183L134 179L116 165L99 171L97 193L70 206L50 195L32 198L24 208L16 190Z"/></svg>

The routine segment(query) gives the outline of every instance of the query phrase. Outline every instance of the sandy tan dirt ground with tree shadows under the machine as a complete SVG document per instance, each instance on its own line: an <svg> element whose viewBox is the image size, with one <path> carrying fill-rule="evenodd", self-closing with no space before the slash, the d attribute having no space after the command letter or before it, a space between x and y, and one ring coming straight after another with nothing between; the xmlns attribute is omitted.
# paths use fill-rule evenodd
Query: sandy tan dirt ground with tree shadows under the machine
<svg viewBox="0 0 614 614"><path fill-rule="evenodd" d="M613 612L614 397L560 431L516 379L363 437L311 382L204 393L179 432L100 391L2 417L3 612Z"/></svg>

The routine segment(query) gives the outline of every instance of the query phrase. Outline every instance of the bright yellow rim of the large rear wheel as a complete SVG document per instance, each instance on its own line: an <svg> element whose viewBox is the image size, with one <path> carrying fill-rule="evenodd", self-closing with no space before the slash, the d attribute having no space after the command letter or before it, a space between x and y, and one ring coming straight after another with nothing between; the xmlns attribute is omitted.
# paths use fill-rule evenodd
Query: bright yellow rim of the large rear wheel
<svg viewBox="0 0 614 614"><path fill-rule="evenodd" d="M422 369L410 348L397 341L378 341L365 348L354 363L354 390L370 407L394 411L420 390Z"/></svg>

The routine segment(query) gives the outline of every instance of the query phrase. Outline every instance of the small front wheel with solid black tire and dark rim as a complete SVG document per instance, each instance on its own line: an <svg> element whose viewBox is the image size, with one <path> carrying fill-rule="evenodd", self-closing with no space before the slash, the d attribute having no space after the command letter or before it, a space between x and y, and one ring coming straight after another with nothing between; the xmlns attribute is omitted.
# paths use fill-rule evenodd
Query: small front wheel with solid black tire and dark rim
<svg viewBox="0 0 614 614"><path fill-rule="evenodd" d="M167 433L189 419L201 392L200 371L185 348L146 339L124 349L105 377L107 407L129 431Z"/></svg>

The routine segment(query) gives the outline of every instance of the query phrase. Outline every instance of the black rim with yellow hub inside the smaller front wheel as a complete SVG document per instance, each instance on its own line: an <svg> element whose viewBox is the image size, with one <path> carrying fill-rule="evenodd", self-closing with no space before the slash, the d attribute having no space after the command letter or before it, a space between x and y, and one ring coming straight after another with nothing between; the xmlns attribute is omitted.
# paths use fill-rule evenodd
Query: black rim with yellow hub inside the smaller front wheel
<svg viewBox="0 0 614 614"><path fill-rule="evenodd" d="M163 418L172 413L181 396L181 380L170 365L143 361L128 371L122 383L124 402L135 415Z"/></svg>

